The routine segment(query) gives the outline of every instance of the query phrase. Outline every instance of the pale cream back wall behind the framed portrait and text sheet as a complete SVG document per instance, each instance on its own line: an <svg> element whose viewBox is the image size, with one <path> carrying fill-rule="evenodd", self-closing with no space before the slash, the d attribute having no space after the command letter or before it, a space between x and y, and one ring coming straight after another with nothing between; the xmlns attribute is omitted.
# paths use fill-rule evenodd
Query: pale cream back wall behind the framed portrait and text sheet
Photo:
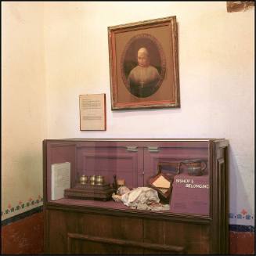
<svg viewBox="0 0 256 256"><path fill-rule="evenodd" d="M29 13L31 3L23 5ZM165 16L178 21L181 108L111 111L107 27ZM38 17L47 138L229 139L230 212L253 215L254 9L227 13L226 2L44 2ZM86 93L106 93L106 132L79 130L78 96Z"/></svg>

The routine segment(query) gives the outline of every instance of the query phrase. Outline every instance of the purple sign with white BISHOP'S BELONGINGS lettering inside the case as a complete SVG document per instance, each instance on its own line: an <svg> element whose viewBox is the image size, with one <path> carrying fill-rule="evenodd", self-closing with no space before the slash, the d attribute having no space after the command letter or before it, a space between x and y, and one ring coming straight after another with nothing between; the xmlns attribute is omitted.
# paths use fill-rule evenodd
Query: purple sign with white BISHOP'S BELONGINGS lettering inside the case
<svg viewBox="0 0 256 256"><path fill-rule="evenodd" d="M173 213L209 215L209 176L176 175L172 183Z"/></svg>

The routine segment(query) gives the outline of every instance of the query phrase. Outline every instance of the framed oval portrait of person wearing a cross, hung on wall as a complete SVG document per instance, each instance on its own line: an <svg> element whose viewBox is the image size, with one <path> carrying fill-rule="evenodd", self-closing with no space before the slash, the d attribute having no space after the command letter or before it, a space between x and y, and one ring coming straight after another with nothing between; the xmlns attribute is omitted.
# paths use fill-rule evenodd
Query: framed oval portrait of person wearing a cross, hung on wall
<svg viewBox="0 0 256 256"><path fill-rule="evenodd" d="M108 27L112 110L179 107L176 17Z"/></svg>

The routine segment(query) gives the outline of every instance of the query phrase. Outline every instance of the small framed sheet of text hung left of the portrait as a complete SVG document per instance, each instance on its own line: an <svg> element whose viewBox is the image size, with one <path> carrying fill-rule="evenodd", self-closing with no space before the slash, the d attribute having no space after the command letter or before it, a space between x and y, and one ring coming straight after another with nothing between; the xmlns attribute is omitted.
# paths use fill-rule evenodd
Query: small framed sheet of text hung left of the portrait
<svg viewBox="0 0 256 256"><path fill-rule="evenodd" d="M105 93L80 95L79 108L81 131L106 131Z"/></svg>

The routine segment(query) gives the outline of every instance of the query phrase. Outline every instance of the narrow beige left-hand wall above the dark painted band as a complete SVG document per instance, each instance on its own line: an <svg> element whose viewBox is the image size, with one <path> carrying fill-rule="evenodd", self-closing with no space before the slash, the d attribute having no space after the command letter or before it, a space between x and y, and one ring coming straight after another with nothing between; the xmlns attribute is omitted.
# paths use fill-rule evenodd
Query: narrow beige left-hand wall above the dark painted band
<svg viewBox="0 0 256 256"><path fill-rule="evenodd" d="M2 2L2 219L42 204L46 121L43 5Z"/></svg>

